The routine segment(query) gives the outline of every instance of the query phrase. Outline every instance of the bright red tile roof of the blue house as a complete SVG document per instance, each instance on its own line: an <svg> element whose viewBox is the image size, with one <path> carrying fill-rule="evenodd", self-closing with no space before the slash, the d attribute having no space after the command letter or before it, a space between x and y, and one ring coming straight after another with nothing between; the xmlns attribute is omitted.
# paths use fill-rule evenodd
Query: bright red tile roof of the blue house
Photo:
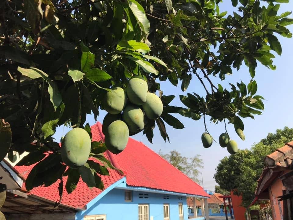
<svg viewBox="0 0 293 220"><path fill-rule="evenodd" d="M91 130L92 141L104 140L102 125L99 122L93 125ZM161 156L149 149L146 145L132 138L129 138L125 150L120 154L115 155L109 151L106 151L104 156L110 160L115 167L124 172L124 175L126 176L126 184L129 186L146 187L176 193L209 197L200 185L177 170L170 163L161 158ZM15 168L26 178L33 166L34 165ZM124 177L115 170L110 169L109 172L110 176L101 176L105 189ZM80 179L77 189L75 189L71 194L67 194L65 190L66 181L67 177L63 177L64 191L61 203L65 205L76 208L84 207L89 203L89 201L102 192L100 189L96 188L89 189ZM59 181L46 188L34 188L31 190L30 194L57 201L59 200L59 193L57 189L58 184Z"/></svg>

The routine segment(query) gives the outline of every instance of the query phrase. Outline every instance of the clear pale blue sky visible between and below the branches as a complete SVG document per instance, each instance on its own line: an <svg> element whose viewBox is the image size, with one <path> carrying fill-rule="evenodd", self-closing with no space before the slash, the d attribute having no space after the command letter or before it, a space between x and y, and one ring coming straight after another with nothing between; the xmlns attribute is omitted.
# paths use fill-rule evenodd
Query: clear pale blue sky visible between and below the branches
<svg viewBox="0 0 293 220"><path fill-rule="evenodd" d="M225 0L225 3L220 3L219 7L221 12L231 12L231 10L235 10L229 0ZM292 9L293 1L288 4L281 4L279 12L283 13L285 11L291 11ZM293 17L293 15L291 15L291 17ZM287 28L293 32L293 25L288 26ZM293 127L293 104L291 103L291 99L293 97L293 68L291 67L291 64L293 63L293 38L284 38L278 34L277 37L282 45L281 56L278 56L275 53L276 58L273 59L273 64L277 66L277 70L269 70L268 68L262 66L262 64L258 64L258 67L256 68L255 80L258 84L257 94L262 95L266 99L264 100L265 110L263 114L256 115L255 120L250 118L243 119L245 141L242 141L237 136L233 125L227 124L227 130L230 138L237 141L240 149L250 148L251 145L257 143L260 139L265 138L269 132L275 132L278 128L282 129L285 126ZM201 84L194 75L192 77L193 80L191 80L190 86L186 92L197 92L198 94L204 96L205 92ZM227 75L226 80L222 82L219 80L218 76L211 77L215 85L220 83L223 87L225 86L228 89L230 89L230 86L228 86L229 82L235 84L236 82L240 82L242 80L247 85L251 79L248 68L244 64L238 72L236 69L233 69L233 75ZM183 93L181 91L180 83L181 82L179 82L177 87L172 86L172 84L168 81L161 83L161 90L164 91L164 95L177 95L170 105L183 106L178 95L186 95L186 92ZM102 122L105 115L106 112L101 110L97 120ZM210 148L204 149L201 143L201 134L204 132L204 123L202 119L194 121L190 118L180 116L179 114L176 114L175 116L184 124L185 128L182 130L176 130L165 123L171 143L165 143L165 141L161 138L157 127L154 129L153 144L147 140L146 136L143 135L142 132L132 136L132 138L142 141L155 152L158 152L161 149L163 153L168 153L169 151L175 149L186 157L193 157L196 154L200 154L200 158L204 162L204 169L200 170L203 174L204 189L214 190L215 181L213 179L213 175L215 173L215 168L217 167L219 160L225 156L229 156L229 153L226 148L220 147L220 145L215 142ZM213 123L209 123L208 120L207 122L208 131L217 140L219 135L225 131L224 124L219 123L215 125ZM88 115L86 123L93 125L95 123L93 116ZM70 128L67 127L59 127L57 128L54 137L57 141L59 141L60 137L64 136L69 130Z"/></svg>

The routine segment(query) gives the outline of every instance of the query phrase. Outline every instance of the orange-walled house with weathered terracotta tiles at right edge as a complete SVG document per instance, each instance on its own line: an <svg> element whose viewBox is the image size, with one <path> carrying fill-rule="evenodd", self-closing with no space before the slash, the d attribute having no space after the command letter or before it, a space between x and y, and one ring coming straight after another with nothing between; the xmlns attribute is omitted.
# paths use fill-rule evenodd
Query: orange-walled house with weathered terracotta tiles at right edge
<svg viewBox="0 0 293 220"><path fill-rule="evenodd" d="M293 219L293 141L266 156L255 199L269 200L273 220Z"/></svg>

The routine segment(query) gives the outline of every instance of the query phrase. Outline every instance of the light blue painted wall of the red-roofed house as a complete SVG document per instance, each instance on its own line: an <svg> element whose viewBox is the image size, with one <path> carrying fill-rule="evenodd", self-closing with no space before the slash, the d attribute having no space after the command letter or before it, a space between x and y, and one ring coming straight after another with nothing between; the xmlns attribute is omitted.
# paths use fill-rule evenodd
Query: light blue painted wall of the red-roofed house
<svg viewBox="0 0 293 220"><path fill-rule="evenodd" d="M188 219L185 196L181 196L182 200L175 195L168 195L169 199L164 199L165 194L132 191L132 202L125 202L124 191L112 189L102 198L98 196L87 204L87 210L76 213L76 220L83 220L85 215L103 214L106 214L107 220L138 220L138 204L149 204L149 217L153 216L154 220L162 220L164 203L169 204L170 220L179 219L178 203L183 203L184 220ZM139 198L139 193L148 194L148 198Z"/></svg>

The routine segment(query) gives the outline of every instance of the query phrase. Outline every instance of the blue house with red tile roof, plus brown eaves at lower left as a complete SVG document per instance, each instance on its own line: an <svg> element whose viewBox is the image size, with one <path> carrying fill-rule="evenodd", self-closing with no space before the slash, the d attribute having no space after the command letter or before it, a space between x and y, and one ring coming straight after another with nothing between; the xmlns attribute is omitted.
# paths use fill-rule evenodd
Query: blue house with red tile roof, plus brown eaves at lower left
<svg viewBox="0 0 293 220"><path fill-rule="evenodd" d="M100 123L91 129L93 141L104 139ZM53 204L60 198L57 189L59 182L49 187L34 188L30 192L24 190L24 182L18 191L27 198L12 193L14 200L18 199L18 205L11 200L10 204L4 204L1 211L7 220L186 220L186 197L201 199L207 204L209 195L200 185L139 141L129 138L123 152L114 155L106 151L104 156L123 174L109 170L110 176L101 176L103 191L89 189L80 179L71 194L67 194L63 186L61 204L52 212ZM14 171L25 180L32 167L14 167ZM66 180L67 177L63 177L64 183ZM27 205L31 203L28 198L35 199L32 207ZM40 200L39 204L37 200ZM207 208L208 205L205 217L209 220Z"/></svg>

